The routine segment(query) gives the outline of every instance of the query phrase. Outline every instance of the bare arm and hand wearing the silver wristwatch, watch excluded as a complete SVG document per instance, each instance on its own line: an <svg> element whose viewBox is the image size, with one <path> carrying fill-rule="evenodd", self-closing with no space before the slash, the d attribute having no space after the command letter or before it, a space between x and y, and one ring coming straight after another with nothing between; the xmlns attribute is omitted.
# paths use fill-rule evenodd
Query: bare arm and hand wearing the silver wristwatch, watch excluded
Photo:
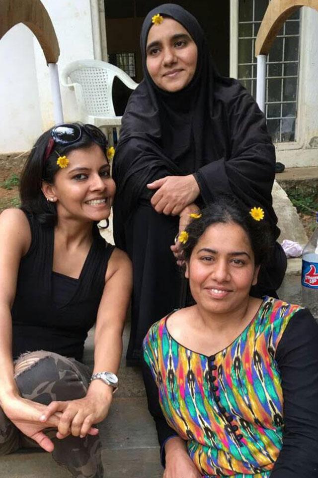
<svg viewBox="0 0 318 478"><path fill-rule="evenodd" d="M132 289L132 267L125 252L115 249L108 263L106 284L100 301L96 330L93 372L117 373L122 354L122 333ZM87 394L78 400L52 402L41 417L47 420L52 413L63 413L59 438L71 429L74 436L85 436L92 424L108 414L113 388L102 380L93 380Z"/></svg>

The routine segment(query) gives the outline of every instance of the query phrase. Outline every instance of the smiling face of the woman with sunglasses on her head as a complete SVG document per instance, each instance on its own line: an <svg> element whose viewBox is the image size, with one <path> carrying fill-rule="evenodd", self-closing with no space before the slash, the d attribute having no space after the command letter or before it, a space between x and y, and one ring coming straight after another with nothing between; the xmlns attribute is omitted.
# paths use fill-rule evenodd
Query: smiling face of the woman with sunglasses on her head
<svg viewBox="0 0 318 478"><path fill-rule="evenodd" d="M67 153L68 167L60 169L54 183L43 183L42 191L57 205L58 217L83 221L107 219L116 186L110 177L110 166L100 146Z"/></svg>

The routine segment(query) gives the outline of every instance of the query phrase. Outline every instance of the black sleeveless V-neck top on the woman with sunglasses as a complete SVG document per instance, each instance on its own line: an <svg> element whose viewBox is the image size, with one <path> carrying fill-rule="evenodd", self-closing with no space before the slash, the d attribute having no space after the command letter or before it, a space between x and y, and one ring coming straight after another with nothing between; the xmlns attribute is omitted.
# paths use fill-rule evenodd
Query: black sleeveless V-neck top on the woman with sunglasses
<svg viewBox="0 0 318 478"><path fill-rule="evenodd" d="M80 360L87 332L96 321L114 246L94 226L93 242L79 279L69 289L69 300L61 303L52 295L54 228L41 225L32 215L26 216L32 240L20 262L11 310L13 358L46 350Z"/></svg>

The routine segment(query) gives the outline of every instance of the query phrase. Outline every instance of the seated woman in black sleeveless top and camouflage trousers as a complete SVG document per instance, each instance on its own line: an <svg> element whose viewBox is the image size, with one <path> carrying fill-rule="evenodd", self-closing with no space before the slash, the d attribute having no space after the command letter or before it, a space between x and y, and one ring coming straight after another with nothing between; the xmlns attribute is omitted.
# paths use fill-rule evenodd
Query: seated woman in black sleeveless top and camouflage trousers
<svg viewBox="0 0 318 478"><path fill-rule="evenodd" d="M0 216L0 455L40 446L74 477L103 476L94 424L117 387L131 291L128 257L97 229L115 194L106 145L87 124L42 134L21 208ZM95 322L91 380L81 359Z"/></svg>

